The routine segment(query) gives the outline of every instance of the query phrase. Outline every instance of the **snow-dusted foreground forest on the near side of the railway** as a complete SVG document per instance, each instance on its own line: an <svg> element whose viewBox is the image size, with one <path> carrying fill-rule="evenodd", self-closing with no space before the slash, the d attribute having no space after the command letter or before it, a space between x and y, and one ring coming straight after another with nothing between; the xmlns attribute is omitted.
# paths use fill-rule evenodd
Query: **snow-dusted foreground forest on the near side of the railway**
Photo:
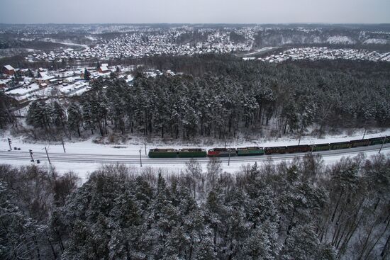
<svg viewBox="0 0 390 260"><path fill-rule="evenodd" d="M0 166L1 259L389 259L390 158L181 174Z"/></svg>

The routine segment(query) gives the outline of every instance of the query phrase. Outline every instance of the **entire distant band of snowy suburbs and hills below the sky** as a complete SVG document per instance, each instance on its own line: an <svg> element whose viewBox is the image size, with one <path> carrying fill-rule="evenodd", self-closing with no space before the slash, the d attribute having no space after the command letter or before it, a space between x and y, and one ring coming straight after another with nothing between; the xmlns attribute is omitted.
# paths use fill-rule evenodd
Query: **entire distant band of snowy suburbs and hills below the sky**
<svg viewBox="0 0 390 260"><path fill-rule="evenodd" d="M13 33L18 43L4 49L0 56L20 53L27 62L67 62L100 60L109 62L122 58L155 55L203 55L208 53L250 55L260 48L284 47L279 54L260 57L265 62L286 60L346 59L389 61L389 50L364 50L360 46L390 43L387 32L352 30L335 32L331 28L289 28L260 25L48 25L0 26L0 36ZM55 33L57 32L57 33ZM354 34L355 33L355 34ZM77 35L77 36L74 36ZM12 43L12 41L11 41ZM318 47L304 47L306 44ZM47 46L46 46L47 45ZM303 45L303 47L296 47ZM337 45L332 46L332 45ZM340 47L345 45L345 47ZM23 46L23 47L21 47ZM377 50L377 51L372 51ZM7 52L8 51L8 52ZM1 54L2 53L2 54Z"/></svg>

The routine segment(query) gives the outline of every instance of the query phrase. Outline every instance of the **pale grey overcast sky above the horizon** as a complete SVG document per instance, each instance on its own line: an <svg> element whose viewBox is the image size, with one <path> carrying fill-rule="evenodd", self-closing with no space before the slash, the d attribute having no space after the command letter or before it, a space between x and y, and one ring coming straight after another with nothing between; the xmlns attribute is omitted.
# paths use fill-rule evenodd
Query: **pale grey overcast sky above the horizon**
<svg viewBox="0 0 390 260"><path fill-rule="evenodd" d="M0 0L0 23L390 23L390 0Z"/></svg>

